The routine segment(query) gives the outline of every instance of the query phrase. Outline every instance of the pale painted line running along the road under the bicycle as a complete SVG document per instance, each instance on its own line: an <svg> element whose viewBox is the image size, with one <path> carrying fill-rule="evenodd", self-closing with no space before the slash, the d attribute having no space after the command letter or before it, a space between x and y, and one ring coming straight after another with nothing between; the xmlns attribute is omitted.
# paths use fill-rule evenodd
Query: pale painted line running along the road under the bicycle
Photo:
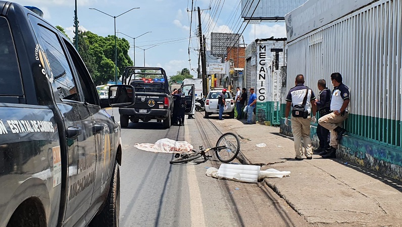
<svg viewBox="0 0 402 227"><path fill-rule="evenodd" d="M191 144L187 125L184 125L184 139ZM204 227L206 225L203 200L201 199L194 165L187 165L187 181L190 197L191 226Z"/></svg>

